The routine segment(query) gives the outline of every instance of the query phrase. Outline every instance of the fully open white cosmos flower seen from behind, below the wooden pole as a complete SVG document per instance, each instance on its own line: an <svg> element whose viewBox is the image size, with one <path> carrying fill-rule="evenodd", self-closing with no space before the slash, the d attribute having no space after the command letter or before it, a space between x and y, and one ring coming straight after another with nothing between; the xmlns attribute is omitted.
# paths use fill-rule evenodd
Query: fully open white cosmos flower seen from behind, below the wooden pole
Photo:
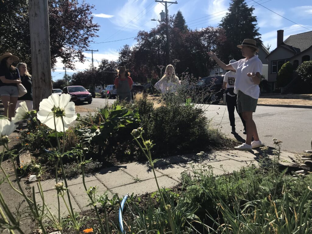
<svg viewBox="0 0 312 234"><path fill-rule="evenodd" d="M39 104L39 111L37 118L42 124L46 124L51 129L54 127L53 114L55 113L56 131L63 132L63 123L65 131L68 129L68 124L77 119L75 114L75 104L70 102L71 96L69 94L51 95L43 99Z"/></svg>

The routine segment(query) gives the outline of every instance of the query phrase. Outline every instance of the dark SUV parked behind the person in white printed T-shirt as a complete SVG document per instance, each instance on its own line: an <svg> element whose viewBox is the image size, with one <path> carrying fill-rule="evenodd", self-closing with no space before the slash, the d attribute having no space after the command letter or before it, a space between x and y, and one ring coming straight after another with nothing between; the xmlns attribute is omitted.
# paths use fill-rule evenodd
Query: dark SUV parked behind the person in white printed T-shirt
<svg viewBox="0 0 312 234"><path fill-rule="evenodd" d="M223 100L223 78L224 75L212 75L201 78L196 85L196 91L207 92L207 97L204 98L204 102L211 102L217 104L220 100Z"/></svg>

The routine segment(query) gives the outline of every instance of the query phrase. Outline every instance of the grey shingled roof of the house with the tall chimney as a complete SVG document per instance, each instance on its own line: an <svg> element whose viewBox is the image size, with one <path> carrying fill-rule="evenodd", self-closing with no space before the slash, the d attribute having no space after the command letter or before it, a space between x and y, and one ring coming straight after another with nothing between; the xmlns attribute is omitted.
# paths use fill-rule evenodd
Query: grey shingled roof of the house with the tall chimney
<svg viewBox="0 0 312 234"><path fill-rule="evenodd" d="M285 41L277 46L273 51L279 47L283 47L295 54L301 53L312 46L312 31L303 32L295 35L290 35ZM273 52L272 51L272 52ZM271 54L272 54L271 52ZM268 55L270 56L270 54ZM266 57L268 57L266 56Z"/></svg>

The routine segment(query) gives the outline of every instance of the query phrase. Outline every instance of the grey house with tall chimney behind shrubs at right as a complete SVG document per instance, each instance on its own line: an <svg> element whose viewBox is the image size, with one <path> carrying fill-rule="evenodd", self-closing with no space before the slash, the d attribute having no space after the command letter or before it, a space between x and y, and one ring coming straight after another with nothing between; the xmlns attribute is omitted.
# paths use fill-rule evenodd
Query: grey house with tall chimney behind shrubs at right
<svg viewBox="0 0 312 234"><path fill-rule="evenodd" d="M289 36L283 41L284 30L277 30L277 47L268 56L268 82L271 89L276 88L278 71L287 61L296 69L302 62L312 58L312 31Z"/></svg>

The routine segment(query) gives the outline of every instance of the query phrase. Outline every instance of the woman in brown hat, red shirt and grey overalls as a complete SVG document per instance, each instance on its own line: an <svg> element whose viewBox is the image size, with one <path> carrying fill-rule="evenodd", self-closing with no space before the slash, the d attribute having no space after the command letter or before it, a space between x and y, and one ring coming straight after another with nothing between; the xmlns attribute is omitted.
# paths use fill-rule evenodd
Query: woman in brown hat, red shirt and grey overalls
<svg viewBox="0 0 312 234"><path fill-rule="evenodd" d="M131 101L131 90L133 81L129 76L129 69L125 66L116 69L118 72L118 77L115 79L114 85L117 90L117 96L119 100Z"/></svg>

